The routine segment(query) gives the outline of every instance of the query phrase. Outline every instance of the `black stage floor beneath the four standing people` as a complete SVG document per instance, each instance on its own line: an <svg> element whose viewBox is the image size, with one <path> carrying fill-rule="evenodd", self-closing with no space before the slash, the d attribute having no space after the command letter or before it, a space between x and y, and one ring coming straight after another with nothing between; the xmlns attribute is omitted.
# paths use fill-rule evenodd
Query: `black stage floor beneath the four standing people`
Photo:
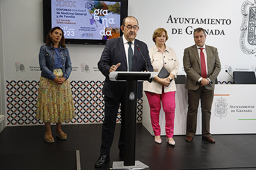
<svg viewBox="0 0 256 170"><path fill-rule="evenodd" d="M1 170L76 170L76 150L80 152L81 170L106 170L119 158L117 147L120 124L111 148L111 159L104 166L95 168L99 157L102 124L62 125L67 140L55 136L55 142L44 141L44 126L6 127L0 133ZM211 144L194 137L185 142L185 136L174 136L175 146L169 145L166 136L162 144L154 142L154 136L137 123L136 160L150 170L204 170L235 169L256 170L256 134L212 135Z"/></svg>

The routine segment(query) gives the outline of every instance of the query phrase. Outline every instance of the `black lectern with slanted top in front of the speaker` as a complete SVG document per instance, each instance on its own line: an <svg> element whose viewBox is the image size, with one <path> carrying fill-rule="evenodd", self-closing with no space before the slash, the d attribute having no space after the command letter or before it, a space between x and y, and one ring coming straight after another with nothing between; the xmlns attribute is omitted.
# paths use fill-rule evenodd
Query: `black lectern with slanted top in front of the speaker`
<svg viewBox="0 0 256 170"><path fill-rule="evenodd" d="M149 80L157 72L123 72L110 73L112 81L126 81L125 121L124 123L124 161L113 162L113 170L149 170L149 167L140 161L135 161L135 131L137 115L137 84L138 80ZM137 165L135 165L137 162Z"/></svg>

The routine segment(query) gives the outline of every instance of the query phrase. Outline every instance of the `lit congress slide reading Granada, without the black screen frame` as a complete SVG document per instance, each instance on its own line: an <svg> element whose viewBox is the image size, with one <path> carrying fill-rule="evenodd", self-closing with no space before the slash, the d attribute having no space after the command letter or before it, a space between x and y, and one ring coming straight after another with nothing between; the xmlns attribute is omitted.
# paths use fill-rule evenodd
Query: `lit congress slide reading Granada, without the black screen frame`
<svg viewBox="0 0 256 170"><path fill-rule="evenodd" d="M52 27L65 38L108 40L120 36L120 2L52 0Z"/></svg>

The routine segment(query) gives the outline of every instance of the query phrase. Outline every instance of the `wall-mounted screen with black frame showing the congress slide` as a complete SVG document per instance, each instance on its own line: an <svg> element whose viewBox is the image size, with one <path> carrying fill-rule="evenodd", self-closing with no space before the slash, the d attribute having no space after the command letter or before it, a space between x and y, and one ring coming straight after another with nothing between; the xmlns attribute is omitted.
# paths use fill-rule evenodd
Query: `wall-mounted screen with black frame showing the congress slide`
<svg viewBox="0 0 256 170"><path fill-rule="evenodd" d="M59 26L66 43L105 44L120 37L128 0L43 0L44 42L49 30Z"/></svg>

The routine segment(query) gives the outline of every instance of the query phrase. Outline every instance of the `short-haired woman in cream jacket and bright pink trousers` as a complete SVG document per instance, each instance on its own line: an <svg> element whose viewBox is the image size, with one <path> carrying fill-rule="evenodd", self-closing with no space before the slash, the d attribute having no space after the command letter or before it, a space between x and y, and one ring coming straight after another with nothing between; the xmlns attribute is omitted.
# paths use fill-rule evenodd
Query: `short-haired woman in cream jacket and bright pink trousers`
<svg viewBox="0 0 256 170"><path fill-rule="evenodd" d="M153 65L154 71L160 72L164 67L169 72L167 78L154 77L151 83L145 81L143 83L143 90L148 98L150 107L151 124L154 130L155 139L157 143L161 143L159 114L161 110L161 103L166 119L166 142L174 145L173 139L174 118L175 118L175 78L179 70L179 61L176 57L175 51L166 46L165 42L168 40L167 31L164 28L157 28L153 34L153 41L155 45L149 49L149 56Z"/></svg>

